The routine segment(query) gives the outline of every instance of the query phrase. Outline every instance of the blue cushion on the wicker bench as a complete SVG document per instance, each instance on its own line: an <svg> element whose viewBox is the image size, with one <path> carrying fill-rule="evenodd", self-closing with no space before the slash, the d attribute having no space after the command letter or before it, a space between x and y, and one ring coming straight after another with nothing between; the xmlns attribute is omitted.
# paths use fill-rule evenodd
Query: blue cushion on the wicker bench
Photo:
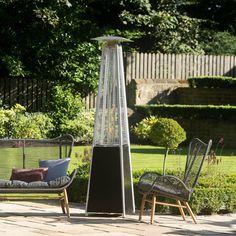
<svg viewBox="0 0 236 236"><path fill-rule="evenodd" d="M58 160L40 160L40 167L47 167L48 172L45 175L44 181L49 182L56 178L65 176L67 174L70 158L58 159Z"/></svg>

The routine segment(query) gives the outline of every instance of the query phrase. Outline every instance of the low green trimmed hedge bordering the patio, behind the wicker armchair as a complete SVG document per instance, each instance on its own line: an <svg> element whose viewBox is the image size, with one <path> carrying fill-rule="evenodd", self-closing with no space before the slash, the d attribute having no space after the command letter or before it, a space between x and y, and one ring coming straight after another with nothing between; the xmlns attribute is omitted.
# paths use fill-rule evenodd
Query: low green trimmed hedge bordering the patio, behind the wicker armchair
<svg viewBox="0 0 236 236"><path fill-rule="evenodd" d="M139 209L141 194L137 189L140 176L148 170L133 172L135 204ZM160 171L159 171L160 172ZM181 175L181 173L168 172L168 174ZM199 184L191 197L190 205L196 214L228 213L236 211L236 175L218 176L214 179L200 177ZM77 175L72 185L68 188L69 200L73 202L86 201L88 175ZM160 199L160 198L159 198ZM161 198L160 200L165 200ZM178 210L178 209L177 209ZM157 206L158 212L171 211L178 213L175 208Z"/></svg>

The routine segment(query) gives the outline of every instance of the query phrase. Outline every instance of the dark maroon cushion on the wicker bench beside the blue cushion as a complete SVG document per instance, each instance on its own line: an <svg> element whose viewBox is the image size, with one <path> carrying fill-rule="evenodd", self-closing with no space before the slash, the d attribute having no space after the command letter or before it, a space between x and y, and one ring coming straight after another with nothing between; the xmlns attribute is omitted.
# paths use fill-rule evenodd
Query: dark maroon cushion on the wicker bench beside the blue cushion
<svg viewBox="0 0 236 236"><path fill-rule="evenodd" d="M32 168L32 169L12 169L10 180L19 180L24 182L41 181L44 179L48 168Z"/></svg>

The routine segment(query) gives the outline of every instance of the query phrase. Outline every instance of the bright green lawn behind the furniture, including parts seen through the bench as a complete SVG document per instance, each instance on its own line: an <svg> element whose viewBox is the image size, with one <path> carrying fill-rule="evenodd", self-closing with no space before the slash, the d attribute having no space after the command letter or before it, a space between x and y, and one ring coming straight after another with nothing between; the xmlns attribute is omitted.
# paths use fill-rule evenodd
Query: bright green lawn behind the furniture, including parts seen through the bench
<svg viewBox="0 0 236 236"><path fill-rule="evenodd" d="M75 146L72 152L72 159L69 165L69 171L79 166L84 156L86 146ZM89 147L90 148L90 147ZM0 178L9 179L11 169L13 167L22 168L22 153L20 149L8 151L7 148L1 149L2 159L0 164ZM133 170L148 169L162 170L164 148L148 145L131 145L131 158ZM167 158L167 170L184 169L187 149L183 147L180 151L170 151ZM41 150L38 151L41 154ZM36 155L36 154L35 154ZM42 158L42 155L40 155ZM43 156L45 159L50 159L50 156ZM39 158L30 158L27 161L27 167L37 167ZM233 149L224 149L222 155L218 157L221 160L219 165L214 166L217 171L222 173L236 173L236 156ZM208 168L205 162L204 168Z"/></svg>

